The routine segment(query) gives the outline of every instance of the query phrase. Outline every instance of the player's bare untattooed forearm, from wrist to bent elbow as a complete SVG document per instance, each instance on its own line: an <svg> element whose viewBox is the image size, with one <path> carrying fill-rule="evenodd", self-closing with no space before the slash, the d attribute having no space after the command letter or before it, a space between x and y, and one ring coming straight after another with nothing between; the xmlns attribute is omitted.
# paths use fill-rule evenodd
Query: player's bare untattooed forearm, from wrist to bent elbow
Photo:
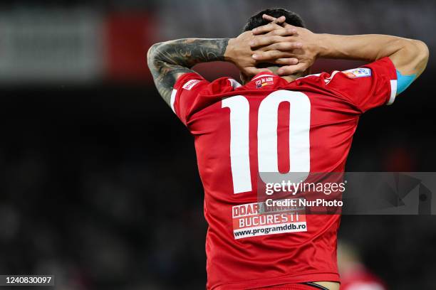
<svg viewBox="0 0 436 290"><path fill-rule="evenodd" d="M389 57L403 75L418 76L427 65L428 49L421 41L396 36L318 34L318 57L368 62Z"/></svg>

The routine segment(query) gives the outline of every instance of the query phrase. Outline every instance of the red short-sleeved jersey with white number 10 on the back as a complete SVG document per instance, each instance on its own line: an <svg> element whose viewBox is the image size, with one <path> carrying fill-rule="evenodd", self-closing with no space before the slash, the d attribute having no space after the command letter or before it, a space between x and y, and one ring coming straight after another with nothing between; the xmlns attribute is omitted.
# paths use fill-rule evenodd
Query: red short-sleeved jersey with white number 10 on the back
<svg viewBox="0 0 436 290"><path fill-rule="evenodd" d="M171 107L194 136L204 187L207 289L339 281L339 215L259 215L259 172L343 172L360 114L390 104L389 58L287 82L246 85L196 73L177 80Z"/></svg>

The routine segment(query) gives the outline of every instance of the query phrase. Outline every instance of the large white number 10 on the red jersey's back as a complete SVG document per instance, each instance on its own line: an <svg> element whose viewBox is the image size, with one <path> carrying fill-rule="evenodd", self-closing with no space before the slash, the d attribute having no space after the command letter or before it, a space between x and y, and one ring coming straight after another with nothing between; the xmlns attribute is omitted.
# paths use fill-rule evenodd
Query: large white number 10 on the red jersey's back
<svg viewBox="0 0 436 290"><path fill-rule="evenodd" d="M257 158L259 173L279 173L277 155L277 123L279 104L289 102L289 164L291 172L310 171L311 102L302 92L278 90L265 97L259 105L257 120ZM238 95L222 100L230 109L230 164L234 193L251 191L249 158L249 102ZM286 177L286 173L283 174ZM262 177L262 176L261 176ZM299 178L306 178L300 176ZM264 178L262 177L264 180ZM264 180L267 182L266 180Z"/></svg>

